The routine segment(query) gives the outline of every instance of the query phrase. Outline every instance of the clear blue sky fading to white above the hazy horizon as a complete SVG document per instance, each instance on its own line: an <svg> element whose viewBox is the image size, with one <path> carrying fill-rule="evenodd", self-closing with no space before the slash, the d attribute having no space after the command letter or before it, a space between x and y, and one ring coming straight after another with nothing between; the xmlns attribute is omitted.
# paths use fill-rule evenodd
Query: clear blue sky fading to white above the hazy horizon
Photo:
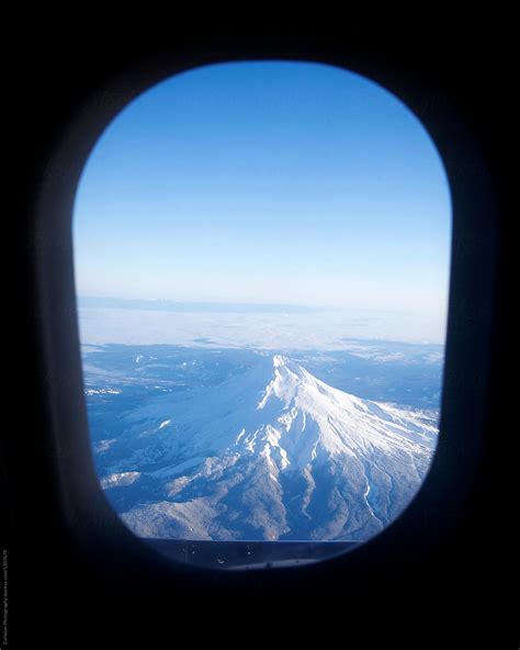
<svg viewBox="0 0 520 650"><path fill-rule="evenodd" d="M213 65L142 94L88 160L74 237L80 295L444 322L437 149L392 93L320 64Z"/></svg>

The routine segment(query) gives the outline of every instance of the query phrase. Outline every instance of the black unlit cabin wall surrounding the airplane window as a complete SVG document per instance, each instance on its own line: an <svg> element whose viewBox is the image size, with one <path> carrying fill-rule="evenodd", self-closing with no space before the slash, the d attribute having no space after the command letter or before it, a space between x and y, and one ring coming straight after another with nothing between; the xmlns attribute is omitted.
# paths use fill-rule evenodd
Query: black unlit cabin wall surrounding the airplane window
<svg viewBox="0 0 520 650"><path fill-rule="evenodd" d="M15 355L4 366L13 382L13 397L4 406L2 434L11 647L22 647L22 641L36 634L39 642L56 648L75 647L79 640L91 647L112 641L117 648L126 643L155 648L185 643L186 629L190 643L236 640L247 645L257 639L274 643L280 634L294 645L313 629L323 643L334 635L349 646L354 635L369 647L376 638L385 642L394 637L421 648L436 634L444 639L455 634L475 638L486 628L497 636L510 620L507 612L491 609L502 605L500 584L504 573L509 573L502 547L512 526L511 513L506 517L501 511L505 494L497 470L512 434L504 418L502 374L506 310L512 296L511 281L505 274L509 142L515 131L509 112L512 34L506 31L507 21L483 20L475 26L446 19L428 27L425 21L412 27L382 21L376 27L337 25L328 31L216 26L190 33L172 26L166 34L151 29L133 35L123 35L122 30L80 35L55 26L25 34L12 51L13 80L7 100L12 116L5 132L14 141L7 160L13 201L4 220L14 226L5 246L14 253L14 267L9 267L5 283L13 289L9 304L14 306L9 315L16 343L7 346ZM419 116L429 119L440 137L439 117L453 108L473 135L476 145L472 147L477 146L485 160L488 191L499 206L499 223L494 224L499 255L495 274L488 278L496 293L493 365L475 368L475 376L484 373L478 379L485 384L482 453L475 460L464 514L452 517L438 543L427 543L418 512L414 529L397 531L387 547L380 546L374 553L366 550L357 568L336 564L331 570L324 563L306 571L241 578L171 572L162 560L140 556L140 547L128 542L120 548L115 537L103 548L95 530L86 543L78 543L61 512L58 464L67 461L68 451L64 449L60 458L55 453L54 407L48 401L42 343L45 310L35 274L39 244L33 227L35 206L41 178L55 169L49 161L56 142L92 93L101 109L116 111L121 97L103 87L135 66L146 67L147 60L162 65L173 56L202 61L236 53L244 58L263 54L278 58L295 52L302 57L344 61L358 71L407 88L422 107ZM67 177L67 161L58 168ZM464 171L464 187L471 192L468 170L471 164ZM474 259L479 233L468 233L462 240ZM464 255L461 245L460 258ZM479 315L470 310L467 328L478 323ZM66 383L67 378L61 381ZM284 632L278 631L280 626Z"/></svg>

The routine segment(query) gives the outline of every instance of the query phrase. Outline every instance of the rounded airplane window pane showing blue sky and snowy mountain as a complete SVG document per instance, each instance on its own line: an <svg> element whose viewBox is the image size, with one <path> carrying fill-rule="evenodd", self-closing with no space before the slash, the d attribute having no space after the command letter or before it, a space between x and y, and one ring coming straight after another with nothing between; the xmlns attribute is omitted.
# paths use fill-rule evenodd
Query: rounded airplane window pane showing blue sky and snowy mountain
<svg viewBox="0 0 520 650"><path fill-rule="evenodd" d="M135 535L281 567L404 512L439 434L451 203L394 94L314 63L171 77L99 139L74 242L93 459Z"/></svg>

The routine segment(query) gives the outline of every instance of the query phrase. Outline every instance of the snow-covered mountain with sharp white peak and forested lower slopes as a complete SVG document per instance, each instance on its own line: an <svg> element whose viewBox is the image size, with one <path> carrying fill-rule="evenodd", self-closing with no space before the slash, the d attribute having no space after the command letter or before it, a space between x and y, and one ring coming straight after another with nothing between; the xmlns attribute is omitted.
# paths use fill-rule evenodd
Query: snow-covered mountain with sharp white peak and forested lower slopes
<svg viewBox="0 0 520 650"><path fill-rule="evenodd" d="M102 485L143 537L365 540L414 497L437 444L433 416L361 400L280 355L124 421L98 446Z"/></svg>

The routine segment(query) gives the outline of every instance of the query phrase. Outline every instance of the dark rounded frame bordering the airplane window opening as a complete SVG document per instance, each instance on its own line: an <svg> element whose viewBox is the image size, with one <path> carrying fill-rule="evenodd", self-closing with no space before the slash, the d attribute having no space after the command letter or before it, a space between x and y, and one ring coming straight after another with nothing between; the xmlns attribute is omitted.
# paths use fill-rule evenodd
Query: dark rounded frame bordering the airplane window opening
<svg viewBox="0 0 520 650"><path fill-rule="evenodd" d="M117 538L146 550L108 504L93 469L74 281L71 221L80 175L90 152L106 125L136 97L177 74L203 65L244 60L297 60L321 63L362 75L396 96L430 135L444 166L452 198L450 298L440 435L430 470L412 502L387 528L347 554L327 560L370 563L375 549L391 558L412 557L417 537L407 530L422 522L422 545L436 545L454 518L476 481L482 459L485 422L486 370L490 366L494 304L496 206L485 161L450 103L438 94L421 94L406 75L374 71L371 65L335 57L204 56L158 57L111 80L84 103L69 123L48 161L33 221L35 273L38 285L41 345L46 367L46 390L52 407L53 442L63 512L77 539L95 545ZM373 64L372 64L373 65ZM400 79L400 80L399 80ZM471 181L474 181L473 183ZM477 236L475 236L477 232ZM471 451L467 453L468 442ZM65 462L66 461L66 462ZM453 494L456 497L453 500ZM442 507L442 504L450 507ZM100 522L102 523L100 525ZM425 523L427 522L427 523ZM427 535L425 535L427 533ZM412 538L412 539L411 539ZM403 545L403 539L408 543ZM420 546L420 545L419 545ZM137 547L136 547L137 548ZM423 552L423 550L421 551ZM392 561L392 560L391 560ZM299 568L303 571L304 568Z"/></svg>

